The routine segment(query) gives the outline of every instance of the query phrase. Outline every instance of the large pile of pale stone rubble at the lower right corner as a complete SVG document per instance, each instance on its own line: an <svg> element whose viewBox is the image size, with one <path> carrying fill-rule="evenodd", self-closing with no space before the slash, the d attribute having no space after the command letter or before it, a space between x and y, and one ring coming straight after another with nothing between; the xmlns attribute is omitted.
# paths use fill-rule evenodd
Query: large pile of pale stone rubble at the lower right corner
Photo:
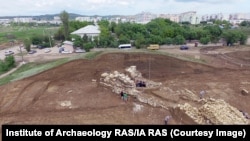
<svg viewBox="0 0 250 141"><path fill-rule="evenodd" d="M200 102L203 104L199 108L188 103L178 105L172 109L172 113L175 116L184 115L189 117L197 124L249 124L238 109L230 106L224 100L210 98L203 99Z"/></svg>

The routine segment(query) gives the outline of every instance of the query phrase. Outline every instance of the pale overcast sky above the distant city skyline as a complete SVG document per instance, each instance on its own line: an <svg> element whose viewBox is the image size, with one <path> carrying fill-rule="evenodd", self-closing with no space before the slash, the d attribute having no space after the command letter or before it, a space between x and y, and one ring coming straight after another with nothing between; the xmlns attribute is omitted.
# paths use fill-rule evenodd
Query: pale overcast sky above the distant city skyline
<svg viewBox="0 0 250 141"><path fill-rule="evenodd" d="M141 12L198 15L250 13L250 0L0 0L0 16L58 14L134 15Z"/></svg>

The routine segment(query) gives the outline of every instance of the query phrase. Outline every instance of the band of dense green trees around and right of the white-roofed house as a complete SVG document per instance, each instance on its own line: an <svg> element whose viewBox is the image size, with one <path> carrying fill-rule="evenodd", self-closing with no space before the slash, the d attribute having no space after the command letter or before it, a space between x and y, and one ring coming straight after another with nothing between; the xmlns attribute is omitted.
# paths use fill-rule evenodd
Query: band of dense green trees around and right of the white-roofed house
<svg viewBox="0 0 250 141"><path fill-rule="evenodd" d="M218 43L221 39L226 45L235 43L245 44L247 34L240 28L232 28L227 21L216 20L214 24L201 23L191 25L189 23L176 23L169 19L157 18L147 24L138 24L133 22L109 22L101 20L98 25L101 34L98 38L90 40L87 36L78 37L70 35L71 32L93 22L69 21L68 13L63 11L60 15L62 26L55 34L57 40L74 39L74 45L84 48L87 51L93 47L114 47L119 44L131 43L136 48L144 48L149 44L159 45L181 45L187 41L197 40L201 44ZM248 22L243 23L244 26Z"/></svg>

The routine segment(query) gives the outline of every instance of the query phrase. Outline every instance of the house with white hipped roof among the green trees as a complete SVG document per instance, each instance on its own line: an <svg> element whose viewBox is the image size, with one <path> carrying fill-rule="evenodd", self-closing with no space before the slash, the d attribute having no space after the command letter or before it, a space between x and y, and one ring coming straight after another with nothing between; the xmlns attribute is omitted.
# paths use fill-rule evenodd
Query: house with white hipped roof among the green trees
<svg viewBox="0 0 250 141"><path fill-rule="evenodd" d="M87 35L89 38L93 40L93 37L99 36L100 33L101 31L99 30L99 26L88 25L72 32L71 34L79 35L81 38L84 35Z"/></svg>

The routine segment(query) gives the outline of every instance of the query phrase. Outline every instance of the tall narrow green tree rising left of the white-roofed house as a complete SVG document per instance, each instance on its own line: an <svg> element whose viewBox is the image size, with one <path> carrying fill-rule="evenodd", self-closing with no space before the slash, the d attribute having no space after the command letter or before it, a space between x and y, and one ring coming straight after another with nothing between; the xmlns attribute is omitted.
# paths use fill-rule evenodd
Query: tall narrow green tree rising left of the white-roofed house
<svg viewBox="0 0 250 141"><path fill-rule="evenodd" d="M60 13L60 19L63 24L64 38L69 39L69 14L64 10Z"/></svg>

